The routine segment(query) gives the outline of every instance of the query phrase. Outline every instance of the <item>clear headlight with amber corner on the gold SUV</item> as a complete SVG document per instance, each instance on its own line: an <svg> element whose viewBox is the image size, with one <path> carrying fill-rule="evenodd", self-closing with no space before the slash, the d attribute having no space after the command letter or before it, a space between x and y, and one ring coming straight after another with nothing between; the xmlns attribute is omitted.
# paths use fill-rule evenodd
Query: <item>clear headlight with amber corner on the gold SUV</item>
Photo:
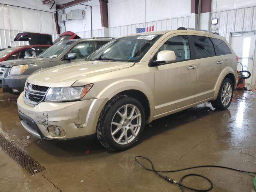
<svg viewBox="0 0 256 192"><path fill-rule="evenodd" d="M81 87L50 87L45 100L46 102L63 102L79 100L92 88L93 84Z"/></svg>

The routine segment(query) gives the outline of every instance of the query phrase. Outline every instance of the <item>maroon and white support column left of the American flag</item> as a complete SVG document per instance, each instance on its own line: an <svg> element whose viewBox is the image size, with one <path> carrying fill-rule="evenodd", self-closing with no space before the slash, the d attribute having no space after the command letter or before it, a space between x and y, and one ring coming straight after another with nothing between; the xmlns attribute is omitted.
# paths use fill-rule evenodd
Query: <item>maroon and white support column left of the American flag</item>
<svg viewBox="0 0 256 192"><path fill-rule="evenodd" d="M104 37L108 37L108 1L100 0L100 17Z"/></svg>

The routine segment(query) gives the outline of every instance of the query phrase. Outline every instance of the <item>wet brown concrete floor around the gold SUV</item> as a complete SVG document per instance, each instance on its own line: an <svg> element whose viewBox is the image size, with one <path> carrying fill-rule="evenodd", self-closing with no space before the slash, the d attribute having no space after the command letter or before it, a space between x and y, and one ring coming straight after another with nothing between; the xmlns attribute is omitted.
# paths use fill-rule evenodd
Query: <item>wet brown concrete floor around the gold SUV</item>
<svg viewBox="0 0 256 192"><path fill-rule="evenodd" d="M256 171L256 92L245 92L244 96L249 100L233 99L225 111L216 111L204 103L156 120L146 126L137 146L113 153L96 139L52 143L31 136L27 140L29 134L17 116L17 96L0 93L0 133L15 140L45 167L30 176L0 150L0 192L180 191L177 185L134 164L136 155L150 158L157 169L214 164ZM198 168L166 175L179 180L187 173L209 177L214 182L214 192L254 191L254 176L232 170ZM198 178L187 178L184 182L207 187Z"/></svg>

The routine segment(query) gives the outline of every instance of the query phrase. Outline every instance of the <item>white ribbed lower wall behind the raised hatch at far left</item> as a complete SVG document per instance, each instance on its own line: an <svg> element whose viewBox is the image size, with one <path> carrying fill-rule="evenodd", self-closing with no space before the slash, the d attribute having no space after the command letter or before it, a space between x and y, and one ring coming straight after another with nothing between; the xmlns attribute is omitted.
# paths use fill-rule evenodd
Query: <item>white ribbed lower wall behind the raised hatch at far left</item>
<svg viewBox="0 0 256 192"><path fill-rule="evenodd" d="M0 29L0 48L7 48L7 46L15 47L27 45L28 42L26 41L14 41L15 36L21 32L23 31ZM59 34L51 35L52 41L56 40L59 37Z"/></svg>

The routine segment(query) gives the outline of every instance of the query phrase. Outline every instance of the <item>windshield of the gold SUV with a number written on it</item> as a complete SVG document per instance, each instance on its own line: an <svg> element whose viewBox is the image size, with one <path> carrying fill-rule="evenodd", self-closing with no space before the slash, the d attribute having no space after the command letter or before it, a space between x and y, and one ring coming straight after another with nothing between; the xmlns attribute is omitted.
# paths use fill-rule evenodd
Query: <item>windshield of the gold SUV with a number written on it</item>
<svg viewBox="0 0 256 192"><path fill-rule="evenodd" d="M138 62L161 35L135 35L118 38L91 54L88 60Z"/></svg>

